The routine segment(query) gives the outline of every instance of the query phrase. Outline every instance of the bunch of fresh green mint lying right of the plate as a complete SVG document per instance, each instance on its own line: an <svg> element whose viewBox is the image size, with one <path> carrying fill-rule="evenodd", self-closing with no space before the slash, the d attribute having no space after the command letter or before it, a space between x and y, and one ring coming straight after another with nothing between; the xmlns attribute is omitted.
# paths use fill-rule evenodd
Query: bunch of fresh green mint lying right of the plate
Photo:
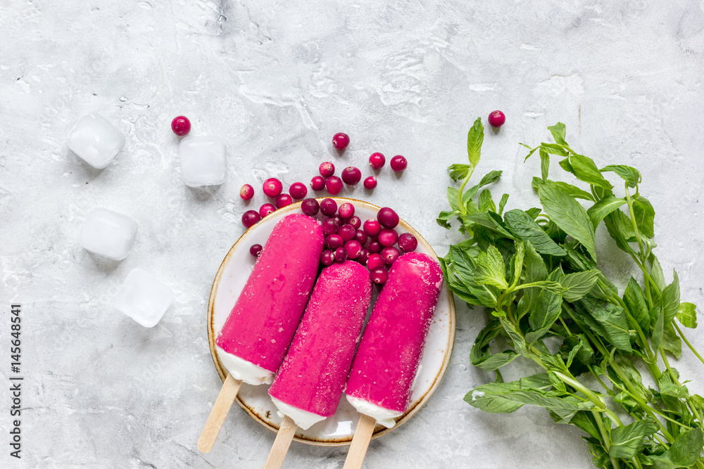
<svg viewBox="0 0 704 469"><path fill-rule="evenodd" d="M548 129L555 143L526 146L526 159L536 152L541 159L533 187L542 207L504 212L507 194L497 207L489 189L482 190L498 180L497 171L465 190L484 140L480 119L467 138L469 164L449 167L460 186L448 188L452 210L437 221L450 228L457 219L467 239L451 246L441 264L456 297L491 312L470 359L496 372L494 383L474 388L465 400L493 413L525 404L547 409L556 423L586 432L599 468L704 469L704 398L687 390L667 356L679 358L684 341L704 363L678 325L695 328L696 307L680 302L677 273L667 285L653 253L655 211L639 193L641 174L625 165L598 169L570 148L564 124ZM548 179L551 158L589 187ZM605 172L620 176L622 191L615 193ZM642 285L631 278L620 294L597 269L594 233L602 221L641 271ZM557 352L548 347L555 343ZM504 383L500 368L521 356L544 372ZM643 384L638 361L657 389ZM598 389L580 381L586 374ZM616 406L626 421L612 411Z"/></svg>

